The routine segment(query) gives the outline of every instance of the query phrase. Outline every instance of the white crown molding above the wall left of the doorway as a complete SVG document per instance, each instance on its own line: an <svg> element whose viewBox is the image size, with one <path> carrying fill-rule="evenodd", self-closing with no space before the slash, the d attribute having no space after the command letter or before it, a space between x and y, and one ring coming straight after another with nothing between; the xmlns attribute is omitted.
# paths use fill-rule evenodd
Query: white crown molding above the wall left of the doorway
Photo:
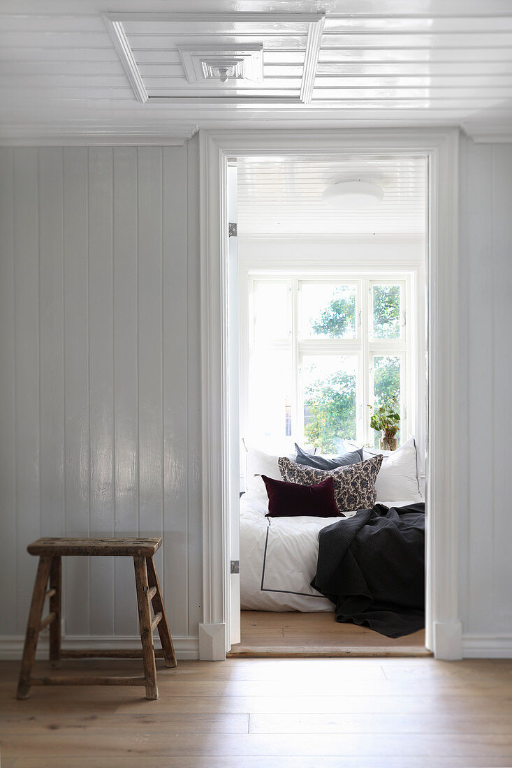
<svg viewBox="0 0 512 768"><path fill-rule="evenodd" d="M4 147L181 147L198 132L197 124L154 125L44 125L4 124Z"/></svg>

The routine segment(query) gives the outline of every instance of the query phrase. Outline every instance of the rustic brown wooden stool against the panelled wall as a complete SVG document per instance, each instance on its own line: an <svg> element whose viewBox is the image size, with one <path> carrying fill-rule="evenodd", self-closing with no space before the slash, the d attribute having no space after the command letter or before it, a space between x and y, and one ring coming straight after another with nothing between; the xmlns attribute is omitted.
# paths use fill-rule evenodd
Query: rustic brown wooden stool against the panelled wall
<svg viewBox="0 0 512 768"><path fill-rule="evenodd" d="M155 656L163 657L166 667L176 667L175 649L153 562L153 555L160 545L161 538L38 538L28 545L30 554L39 555L39 564L28 614L22 668L16 694L18 699L28 698L32 685L144 685L146 698L158 699ZM133 558L142 650L61 650L61 558L76 554ZM50 583L47 589L48 579ZM42 611L46 600L50 603L49 613L43 619ZM155 609L155 617L152 619L151 605ZM39 632L48 625L51 667L60 667L63 658L142 657L144 677L32 677ZM153 647L155 628L158 628L161 642L161 650L156 653Z"/></svg>

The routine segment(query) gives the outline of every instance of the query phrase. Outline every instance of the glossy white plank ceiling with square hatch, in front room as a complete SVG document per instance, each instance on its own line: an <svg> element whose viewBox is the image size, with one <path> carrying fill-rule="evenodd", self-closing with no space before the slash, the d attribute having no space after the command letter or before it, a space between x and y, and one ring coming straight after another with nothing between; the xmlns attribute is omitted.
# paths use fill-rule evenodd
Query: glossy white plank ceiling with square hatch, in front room
<svg viewBox="0 0 512 768"><path fill-rule="evenodd" d="M510 0L3 0L0 45L5 135L512 127ZM193 55L238 77L190 82Z"/></svg>

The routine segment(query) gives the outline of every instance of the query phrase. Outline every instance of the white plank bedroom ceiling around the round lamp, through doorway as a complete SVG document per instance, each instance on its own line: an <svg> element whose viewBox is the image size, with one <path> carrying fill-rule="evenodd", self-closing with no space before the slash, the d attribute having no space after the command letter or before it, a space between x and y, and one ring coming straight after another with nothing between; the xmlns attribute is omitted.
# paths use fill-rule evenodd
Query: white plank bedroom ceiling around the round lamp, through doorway
<svg viewBox="0 0 512 768"><path fill-rule="evenodd" d="M364 177L384 200L361 210L334 210L325 187ZM417 234L425 232L426 161L391 154L267 157L238 161L238 231L248 234Z"/></svg>

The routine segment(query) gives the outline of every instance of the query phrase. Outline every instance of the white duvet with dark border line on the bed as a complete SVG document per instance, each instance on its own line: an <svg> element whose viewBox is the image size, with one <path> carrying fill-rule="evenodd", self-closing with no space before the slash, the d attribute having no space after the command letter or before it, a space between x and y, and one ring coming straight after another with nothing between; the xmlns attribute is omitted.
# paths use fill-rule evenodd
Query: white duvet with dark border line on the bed
<svg viewBox="0 0 512 768"><path fill-rule="evenodd" d="M381 502L393 506L394 502ZM403 504L404 502L400 502ZM240 502L241 607L252 611L334 611L311 587L318 531L346 518L265 518L268 500L247 492ZM347 512L348 517L355 512Z"/></svg>

